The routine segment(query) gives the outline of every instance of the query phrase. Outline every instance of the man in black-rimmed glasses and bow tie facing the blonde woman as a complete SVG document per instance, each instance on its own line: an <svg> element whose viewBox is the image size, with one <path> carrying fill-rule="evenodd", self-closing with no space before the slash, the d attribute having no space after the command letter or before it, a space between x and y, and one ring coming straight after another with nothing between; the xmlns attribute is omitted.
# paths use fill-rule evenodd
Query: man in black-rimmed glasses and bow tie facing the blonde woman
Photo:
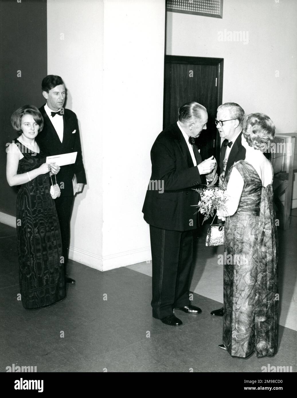
<svg viewBox="0 0 297 398"><path fill-rule="evenodd" d="M220 105L216 113L216 128L224 138L220 152L220 178L224 182L232 164L246 158L246 150L241 144L244 110L235 102ZM212 316L223 316L224 307L210 312Z"/></svg>

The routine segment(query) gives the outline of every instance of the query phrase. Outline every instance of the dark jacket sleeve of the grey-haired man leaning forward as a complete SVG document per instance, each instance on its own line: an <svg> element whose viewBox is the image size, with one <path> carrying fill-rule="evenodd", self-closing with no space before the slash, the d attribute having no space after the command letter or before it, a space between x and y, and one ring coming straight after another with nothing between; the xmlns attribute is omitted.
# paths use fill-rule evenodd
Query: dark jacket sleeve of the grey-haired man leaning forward
<svg viewBox="0 0 297 398"><path fill-rule="evenodd" d="M201 184L197 166L176 170L176 156L160 142L151 148L152 176L164 181L165 191L178 191Z"/></svg>

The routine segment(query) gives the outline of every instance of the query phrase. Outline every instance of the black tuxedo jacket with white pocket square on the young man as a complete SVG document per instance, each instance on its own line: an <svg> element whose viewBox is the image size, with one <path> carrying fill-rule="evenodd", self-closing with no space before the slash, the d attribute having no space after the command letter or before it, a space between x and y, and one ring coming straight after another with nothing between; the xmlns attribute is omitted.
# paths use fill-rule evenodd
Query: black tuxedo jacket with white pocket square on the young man
<svg viewBox="0 0 297 398"><path fill-rule="evenodd" d="M81 140L79 138L77 117L73 111L64 108L63 141L61 142L53 124L45 112L44 105L39 108L39 111L44 120L43 129L36 137L40 150L44 152L46 156L77 152L75 163L61 166L61 170L56 175L59 186L61 187L61 182L64 183L64 188L61 189L61 196L73 196L72 179L74 174L76 175L78 183L87 183L81 154Z"/></svg>

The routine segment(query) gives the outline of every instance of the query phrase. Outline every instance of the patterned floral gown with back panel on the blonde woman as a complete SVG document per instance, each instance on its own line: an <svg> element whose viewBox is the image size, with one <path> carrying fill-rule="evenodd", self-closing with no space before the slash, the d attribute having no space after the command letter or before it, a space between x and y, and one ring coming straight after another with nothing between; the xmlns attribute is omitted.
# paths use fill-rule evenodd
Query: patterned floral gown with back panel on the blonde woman
<svg viewBox="0 0 297 398"><path fill-rule="evenodd" d="M244 188L236 213L225 222L223 343L232 356L248 357L253 351L257 357L273 356L278 285L272 185L262 187L258 173L244 160L233 167Z"/></svg>

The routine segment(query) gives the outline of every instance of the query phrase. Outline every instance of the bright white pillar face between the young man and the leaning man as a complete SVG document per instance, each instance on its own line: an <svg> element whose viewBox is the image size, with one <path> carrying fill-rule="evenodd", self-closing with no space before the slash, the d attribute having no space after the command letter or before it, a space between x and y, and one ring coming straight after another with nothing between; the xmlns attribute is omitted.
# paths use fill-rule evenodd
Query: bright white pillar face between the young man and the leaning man
<svg viewBox="0 0 297 398"><path fill-rule="evenodd" d="M104 2L103 269L151 259L142 205L163 124L165 0Z"/></svg>

